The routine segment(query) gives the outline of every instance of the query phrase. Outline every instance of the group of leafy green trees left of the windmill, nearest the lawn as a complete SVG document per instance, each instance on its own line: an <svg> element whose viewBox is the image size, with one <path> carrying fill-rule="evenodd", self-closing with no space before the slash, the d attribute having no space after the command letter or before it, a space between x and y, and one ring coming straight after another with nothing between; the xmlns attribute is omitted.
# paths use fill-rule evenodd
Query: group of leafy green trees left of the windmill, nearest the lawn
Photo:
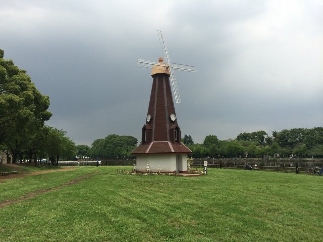
<svg viewBox="0 0 323 242"><path fill-rule="evenodd" d="M7 160L10 155L12 163L49 158L57 165L60 157L75 157L75 144L66 132L45 125L52 116L49 97L36 88L25 70L3 57L0 50L0 150Z"/></svg>

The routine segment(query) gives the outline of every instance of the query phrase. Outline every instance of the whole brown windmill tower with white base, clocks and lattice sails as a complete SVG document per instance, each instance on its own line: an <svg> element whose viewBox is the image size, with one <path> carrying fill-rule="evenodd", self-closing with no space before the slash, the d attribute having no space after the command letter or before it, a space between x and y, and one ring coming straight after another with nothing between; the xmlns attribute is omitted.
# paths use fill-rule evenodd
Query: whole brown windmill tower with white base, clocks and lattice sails
<svg viewBox="0 0 323 242"><path fill-rule="evenodd" d="M159 41L163 49L163 58L159 62L138 59L141 67L152 68L153 83L146 117L142 128L141 145L132 154L137 156L137 169L145 171L147 164L150 171L179 173L187 172L187 154L192 151L181 143L181 129L177 124L177 117L172 98L170 80L177 103L181 103L175 75L172 69L195 72L193 66L170 63L163 34L158 30Z"/></svg>

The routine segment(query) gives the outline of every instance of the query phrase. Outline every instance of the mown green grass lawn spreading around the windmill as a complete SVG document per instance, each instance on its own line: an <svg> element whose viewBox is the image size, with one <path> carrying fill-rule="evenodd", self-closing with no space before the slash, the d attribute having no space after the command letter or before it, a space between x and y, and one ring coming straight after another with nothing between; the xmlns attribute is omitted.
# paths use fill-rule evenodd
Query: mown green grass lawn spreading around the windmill
<svg viewBox="0 0 323 242"><path fill-rule="evenodd" d="M323 177L229 169L137 176L117 168L0 180L0 205L28 198L0 207L0 241L321 241Z"/></svg>

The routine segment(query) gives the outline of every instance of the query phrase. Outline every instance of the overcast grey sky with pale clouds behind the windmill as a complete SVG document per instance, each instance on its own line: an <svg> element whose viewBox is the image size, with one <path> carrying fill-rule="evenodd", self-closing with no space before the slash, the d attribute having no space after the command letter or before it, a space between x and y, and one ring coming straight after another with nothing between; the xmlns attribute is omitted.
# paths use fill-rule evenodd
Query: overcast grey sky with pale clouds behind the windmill
<svg viewBox="0 0 323 242"><path fill-rule="evenodd" d="M77 145L141 139L152 78L137 58L175 71L182 135L323 126L323 1L0 0L0 49L50 97L49 126Z"/></svg>

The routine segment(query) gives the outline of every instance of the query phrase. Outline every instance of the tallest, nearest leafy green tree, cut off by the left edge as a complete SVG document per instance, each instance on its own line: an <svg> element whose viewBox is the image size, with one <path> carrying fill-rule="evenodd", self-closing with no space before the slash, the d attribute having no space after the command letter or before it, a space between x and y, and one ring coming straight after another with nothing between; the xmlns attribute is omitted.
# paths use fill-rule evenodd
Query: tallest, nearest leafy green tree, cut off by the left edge
<svg viewBox="0 0 323 242"><path fill-rule="evenodd" d="M51 113L49 97L42 95L26 75L14 63L3 59L0 51L0 144L17 156L27 150L30 137L36 133Z"/></svg>

